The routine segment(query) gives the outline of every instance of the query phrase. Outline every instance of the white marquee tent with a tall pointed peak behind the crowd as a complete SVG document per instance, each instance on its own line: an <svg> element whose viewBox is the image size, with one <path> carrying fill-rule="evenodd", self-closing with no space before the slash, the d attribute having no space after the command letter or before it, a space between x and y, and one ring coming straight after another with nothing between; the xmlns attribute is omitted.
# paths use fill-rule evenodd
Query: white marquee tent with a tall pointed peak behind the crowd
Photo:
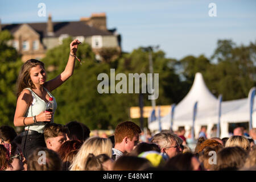
<svg viewBox="0 0 256 182"><path fill-rule="evenodd" d="M255 98L254 98L255 100ZM186 130L191 129L193 121L193 106L197 101L197 114L195 119L195 137L197 138L202 125L207 125L207 133L210 133L214 124L218 123L218 100L205 85L201 73L196 73L191 90L187 96L177 104L174 111L173 126L177 130L179 126L185 126ZM254 111L256 106L254 105ZM249 121L249 100L224 101L221 104L221 138L229 137L228 123ZM170 129L171 111L160 118L162 130ZM253 127L256 127L256 112L253 114ZM156 119L148 123L152 131L159 130L159 122Z"/></svg>

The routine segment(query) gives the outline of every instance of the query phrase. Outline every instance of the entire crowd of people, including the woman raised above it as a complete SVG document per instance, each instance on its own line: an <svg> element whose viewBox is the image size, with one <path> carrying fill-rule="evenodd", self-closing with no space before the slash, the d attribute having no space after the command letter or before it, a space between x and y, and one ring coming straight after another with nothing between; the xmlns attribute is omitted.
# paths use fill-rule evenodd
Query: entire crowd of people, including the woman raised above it
<svg viewBox="0 0 256 182"><path fill-rule="evenodd" d="M119 123L111 136L91 136L88 126L71 121L54 123L57 108L51 94L73 75L77 48L70 44L63 72L47 80L44 63L31 59L20 69L14 127L0 126L1 171L146 171L255 170L256 129L245 135L240 127L230 138L207 137L202 127L195 148L185 129L143 133L134 122ZM53 108L46 110L49 100ZM191 135L191 134L190 134Z"/></svg>

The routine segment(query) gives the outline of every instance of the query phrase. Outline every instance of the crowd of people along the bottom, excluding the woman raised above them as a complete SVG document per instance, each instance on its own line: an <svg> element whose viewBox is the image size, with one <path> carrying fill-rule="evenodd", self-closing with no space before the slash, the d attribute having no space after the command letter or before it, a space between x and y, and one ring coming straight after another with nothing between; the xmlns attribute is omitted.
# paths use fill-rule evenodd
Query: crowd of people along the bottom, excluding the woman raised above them
<svg viewBox="0 0 256 182"><path fill-rule="evenodd" d="M0 126L0 167L2 171L256 170L256 128L249 137L242 133L222 139L200 137L194 150L184 135L179 137L180 131L149 135L126 121L115 127L113 135L99 137L81 122L47 123L46 147L24 156L24 136L14 127Z"/></svg>

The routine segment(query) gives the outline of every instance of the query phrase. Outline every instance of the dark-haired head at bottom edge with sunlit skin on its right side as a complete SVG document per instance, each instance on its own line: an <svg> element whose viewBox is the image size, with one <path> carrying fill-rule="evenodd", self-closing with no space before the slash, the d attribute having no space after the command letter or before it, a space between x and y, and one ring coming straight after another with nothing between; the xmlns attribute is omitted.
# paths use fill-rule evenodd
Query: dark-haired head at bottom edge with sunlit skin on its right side
<svg viewBox="0 0 256 182"><path fill-rule="evenodd" d="M170 171L202 171L199 159L196 158L191 152L185 154L178 154L169 159L164 168Z"/></svg>

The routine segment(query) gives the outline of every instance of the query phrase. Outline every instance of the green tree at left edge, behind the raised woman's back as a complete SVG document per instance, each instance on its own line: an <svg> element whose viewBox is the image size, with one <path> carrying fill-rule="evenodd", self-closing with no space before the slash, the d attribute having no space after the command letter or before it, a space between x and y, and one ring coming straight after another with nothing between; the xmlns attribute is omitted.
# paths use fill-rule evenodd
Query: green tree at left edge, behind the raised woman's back
<svg viewBox="0 0 256 182"><path fill-rule="evenodd" d="M0 32L0 124L14 126L15 88L22 61L16 50L7 46L11 39L10 32Z"/></svg>

